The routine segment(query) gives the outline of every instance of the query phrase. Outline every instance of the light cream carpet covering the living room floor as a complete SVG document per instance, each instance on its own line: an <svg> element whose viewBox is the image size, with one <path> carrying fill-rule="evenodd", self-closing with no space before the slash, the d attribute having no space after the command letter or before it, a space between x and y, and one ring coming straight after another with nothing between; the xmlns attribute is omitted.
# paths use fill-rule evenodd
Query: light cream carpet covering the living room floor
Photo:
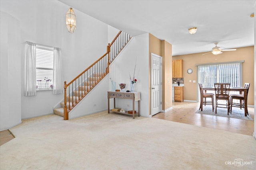
<svg viewBox="0 0 256 170"><path fill-rule="evenodd" d="M0 169L42 170L255 170L256 140L162 119L96 113L64 121L46 115L10 129L0 146Z"/></svg>

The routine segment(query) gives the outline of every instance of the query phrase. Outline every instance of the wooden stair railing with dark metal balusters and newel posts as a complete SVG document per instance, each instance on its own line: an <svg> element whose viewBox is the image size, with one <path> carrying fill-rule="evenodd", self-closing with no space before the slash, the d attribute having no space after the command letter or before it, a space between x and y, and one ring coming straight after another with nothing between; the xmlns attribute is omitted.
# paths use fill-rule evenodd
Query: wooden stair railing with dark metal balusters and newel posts
<svg viewBox="0 0 256 170"><path fill-rule="evenodd" d="M102 57L76 76L71 82L64 82L64 120L68 120L68 112L108 74L109 65L131 38L131 35L119 31L114 40L108 43L107 52Z"/></svg>

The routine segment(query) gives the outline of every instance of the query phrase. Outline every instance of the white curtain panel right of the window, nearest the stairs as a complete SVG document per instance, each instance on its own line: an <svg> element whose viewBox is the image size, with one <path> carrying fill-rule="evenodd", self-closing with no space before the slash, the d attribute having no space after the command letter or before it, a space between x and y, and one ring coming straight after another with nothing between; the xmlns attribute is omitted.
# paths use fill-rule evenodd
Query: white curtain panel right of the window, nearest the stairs
<svg viewBox="0 0 256 170"><path fill-rule="evenodd" d="M60 48L54 47L54 87L53 94L61 94L64 91L62 59L60 56Z"/></svg>

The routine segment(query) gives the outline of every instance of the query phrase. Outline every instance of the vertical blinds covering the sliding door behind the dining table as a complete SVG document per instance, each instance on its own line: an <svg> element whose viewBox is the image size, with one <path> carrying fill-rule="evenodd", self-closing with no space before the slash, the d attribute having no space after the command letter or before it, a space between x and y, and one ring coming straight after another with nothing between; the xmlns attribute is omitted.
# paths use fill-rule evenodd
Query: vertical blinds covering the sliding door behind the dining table
<svg viewBox="0 0 256 170"><path fill-rule="evenodd" d="M242 63L198 65L198 82L213 87L214 83L230 83L230 87L242 86Z"/></svg>

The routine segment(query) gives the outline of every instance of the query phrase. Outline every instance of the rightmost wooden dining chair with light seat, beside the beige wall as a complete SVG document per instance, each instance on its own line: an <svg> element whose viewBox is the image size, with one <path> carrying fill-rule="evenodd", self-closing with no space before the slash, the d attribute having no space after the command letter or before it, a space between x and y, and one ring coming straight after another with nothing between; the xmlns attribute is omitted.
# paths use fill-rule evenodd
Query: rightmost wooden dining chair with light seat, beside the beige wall
<svg viewBox="0 0 256 170"><path fill-rule="evenodd" d="M247 104L244 103L244 99L247 99L248 96L248 91L249 91L250 83L244 83L244 88L247 89L247 95L245 96L244 92L242 94L230 94L230 113L232 113L232 107L240 107L242 108L247 108ZM240 103L236 103L233 101L233 99L240 100ZM245 106L246 105L246 106ZM247 115L248 115L248 109L247 109Z"/></svg>

